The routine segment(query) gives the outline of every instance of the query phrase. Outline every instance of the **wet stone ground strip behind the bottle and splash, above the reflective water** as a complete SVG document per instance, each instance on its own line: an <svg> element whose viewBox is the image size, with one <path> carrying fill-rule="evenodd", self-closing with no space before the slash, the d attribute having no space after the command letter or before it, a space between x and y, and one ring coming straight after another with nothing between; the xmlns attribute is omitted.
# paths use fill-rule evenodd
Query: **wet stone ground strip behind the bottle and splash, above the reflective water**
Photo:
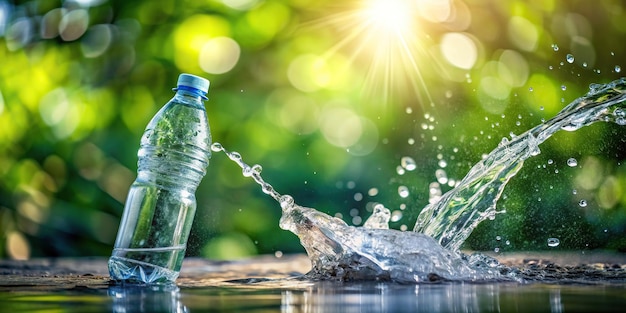
<svg viewBox="0 0 626 313"><path fill-rule="evenodd" d="M504 274L523 283L624 284L626 255L595 252L514 253L493 255ZM258 256L245 260L210 261L187 258L177 280L180 287L262 286L273 288L305 283L310 269L306 255ZM0 260L0 292L106 289L112 283L106 258L58 258L28 261Z"/></svg>

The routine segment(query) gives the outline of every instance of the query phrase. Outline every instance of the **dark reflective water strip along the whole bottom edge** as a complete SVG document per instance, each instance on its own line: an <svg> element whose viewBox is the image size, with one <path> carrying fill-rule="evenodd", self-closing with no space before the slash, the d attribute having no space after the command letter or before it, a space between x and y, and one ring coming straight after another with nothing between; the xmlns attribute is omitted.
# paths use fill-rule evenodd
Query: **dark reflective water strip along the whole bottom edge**
<svg viewBox="0 0 626 313"><path fill-rule="evenodd" d="M622 312L626 286L281 281L0 292L3 312Z"/></svg>

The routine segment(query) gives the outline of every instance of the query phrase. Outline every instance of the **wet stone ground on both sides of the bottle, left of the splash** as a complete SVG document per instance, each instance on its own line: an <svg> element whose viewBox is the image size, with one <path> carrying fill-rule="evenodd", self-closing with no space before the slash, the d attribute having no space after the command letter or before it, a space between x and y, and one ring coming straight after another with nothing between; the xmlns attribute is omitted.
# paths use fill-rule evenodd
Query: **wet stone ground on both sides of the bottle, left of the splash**
<svg viewBox="0 0 626 313"><path fill-rule="evenodd" d="M259 256L246 260L187 258L176 284L180 287L232 286L302 276L310 268L305 255ZM106 258L0 260L0 292L108 288Z"/></svg>

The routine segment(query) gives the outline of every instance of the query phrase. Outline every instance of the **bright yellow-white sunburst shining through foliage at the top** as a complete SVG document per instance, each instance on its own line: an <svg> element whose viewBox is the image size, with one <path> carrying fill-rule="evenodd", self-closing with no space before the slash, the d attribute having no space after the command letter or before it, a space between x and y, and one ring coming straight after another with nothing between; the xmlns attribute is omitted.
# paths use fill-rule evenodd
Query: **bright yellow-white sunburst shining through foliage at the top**
<svg viewBox="0 0 626 313"><path fill-rule="evenodd" d="M362 0L330 11L305 25L330 27L341 38L324 57L347 55L351 66L365 71L364 92L385 102L400 95L432 102L420 68L420 59L428 57L428 36L420 28L418 1Z"/></svg>

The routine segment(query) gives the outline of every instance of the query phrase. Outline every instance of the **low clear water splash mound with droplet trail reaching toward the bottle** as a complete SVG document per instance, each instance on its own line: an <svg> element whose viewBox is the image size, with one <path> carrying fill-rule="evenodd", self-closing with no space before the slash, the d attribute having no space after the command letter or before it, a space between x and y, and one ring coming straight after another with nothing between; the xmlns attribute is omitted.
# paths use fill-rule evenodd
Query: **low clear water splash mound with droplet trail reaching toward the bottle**
<svg viewBox="0 0 626 313"><path fill-rule="evenodd" d="M220 143L211 147L224 152L244 173L250 166L237 152L226 150ZM245 174L244 174L245 175ZM431 237L389 229L389 209L376 205L363 227L349 226L343 220L312 208L297 205L289 195L281 195L251 171L263 191L280 203L280 227L296 234L306 250L312 269L310 279L393 280L423 282L441 279L488 280L504 279L498 262L489 257L470 257L439 245Z"/></svg>

